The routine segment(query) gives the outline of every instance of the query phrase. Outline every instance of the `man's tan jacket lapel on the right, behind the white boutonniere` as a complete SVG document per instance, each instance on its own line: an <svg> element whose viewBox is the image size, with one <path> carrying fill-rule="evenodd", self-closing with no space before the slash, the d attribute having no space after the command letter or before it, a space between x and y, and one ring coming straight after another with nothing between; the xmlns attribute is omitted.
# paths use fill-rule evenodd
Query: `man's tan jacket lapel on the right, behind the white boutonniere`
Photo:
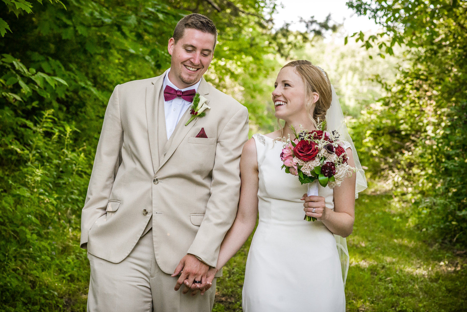
<svg viewBox="0 0 467 312"><path fill-rule="evenodd" d="M201 82L199 83L198 86L198 93L200 95L207 95L209 93L209 85L206 82L204 78L201 78ZM209 101L208 101L209 104ZM166 146L164 147L163 150L163 159L160 163L159 169L163 166L164 163L167 162L167 160L172 156L172 154L175 152L177 149L178 145L183 141L184 137L188 134L188 132L193 128L193 126L196 124L198 121L198 118L195 118L193 121L191 121L187 126L185 126L185 123L190 119L191 114L190 114L190 108L186 110L186 112L183 114L182 118L180 121L177 123L177 127L175 127L175 130L170 137L169 141L167 142ZM157 169L157 170L159 170ZM157 171L156 170L156 171Z"/></svg>

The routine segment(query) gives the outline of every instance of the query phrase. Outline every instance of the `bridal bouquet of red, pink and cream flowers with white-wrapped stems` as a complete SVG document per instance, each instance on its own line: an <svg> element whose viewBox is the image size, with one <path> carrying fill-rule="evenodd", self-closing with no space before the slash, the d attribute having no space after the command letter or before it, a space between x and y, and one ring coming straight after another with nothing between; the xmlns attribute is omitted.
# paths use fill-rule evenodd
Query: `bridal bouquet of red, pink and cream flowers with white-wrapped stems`
<svg viewBox="0 0 467 312"><path fill-rule="evenodd" d="M347 163L344 146L349 143L340 140L337 130L325 131L325 126L325 122L318 121L317 128L320 130L302 130L298 133L291 126L295 138L289 136L285 140L280 156L286 173L297 176L301 184L308 183L308 196L318 195L318 183L333 189L340 186L345 177L356 172ZM316 218L305 215L304 220L315 221Z"/></svg>

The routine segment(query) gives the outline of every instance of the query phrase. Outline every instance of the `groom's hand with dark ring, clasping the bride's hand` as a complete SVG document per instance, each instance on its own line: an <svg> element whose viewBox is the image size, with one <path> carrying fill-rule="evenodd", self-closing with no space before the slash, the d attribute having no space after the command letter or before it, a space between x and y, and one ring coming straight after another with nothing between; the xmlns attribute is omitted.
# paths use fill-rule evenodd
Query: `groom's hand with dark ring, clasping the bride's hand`
<svg viewBox="0 0 467 312"><path fill-rule="evenodd" d="M175 268L172 277L176 277L179 273L180 277L175 284L175 291L178 291L182 284L185 284L183 293L186 294L190 289L196 290L200 288L200 284L193 284L193 281L205 281L209 265L199 261L194 255L185 255Z"/></svg>

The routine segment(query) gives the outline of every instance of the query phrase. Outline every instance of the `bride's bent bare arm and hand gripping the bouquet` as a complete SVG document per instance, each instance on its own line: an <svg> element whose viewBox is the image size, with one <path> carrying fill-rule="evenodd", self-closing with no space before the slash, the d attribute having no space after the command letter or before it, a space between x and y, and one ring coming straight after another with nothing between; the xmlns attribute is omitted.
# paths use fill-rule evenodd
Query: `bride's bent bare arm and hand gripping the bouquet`
<svg viewBox="0 0 467 312"><path fill-rule="evenodd" d="M355 167L352 149L347 149L346 153L347 163ZM340 186L334 188L334 210L325 207L323 197L310 196L305 199L305 213L322 221L333 234L347 237L354 229L355 180L356 174L353 174L352 177L346 177ZM319 199L309 200L311 197ZM313 207L317 208L316 213L311 213Z"/></svg>

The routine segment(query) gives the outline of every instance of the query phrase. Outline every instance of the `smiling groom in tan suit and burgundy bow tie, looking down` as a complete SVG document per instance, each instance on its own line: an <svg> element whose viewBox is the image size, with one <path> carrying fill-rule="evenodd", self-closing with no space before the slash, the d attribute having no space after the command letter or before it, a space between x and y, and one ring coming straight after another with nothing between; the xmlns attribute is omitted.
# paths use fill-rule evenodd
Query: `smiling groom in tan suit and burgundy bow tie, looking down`
<svg viewBox="0 0 467 312"><path fill-rule="evenodd" d="M212 309L215 279L204 296L174 286L199 288L237 211L248 111L203 78L216 41L210 19L185 16L170 69L113 90L81 219L88 311ZM195 92L209 108L185 125Z"/></svg>

